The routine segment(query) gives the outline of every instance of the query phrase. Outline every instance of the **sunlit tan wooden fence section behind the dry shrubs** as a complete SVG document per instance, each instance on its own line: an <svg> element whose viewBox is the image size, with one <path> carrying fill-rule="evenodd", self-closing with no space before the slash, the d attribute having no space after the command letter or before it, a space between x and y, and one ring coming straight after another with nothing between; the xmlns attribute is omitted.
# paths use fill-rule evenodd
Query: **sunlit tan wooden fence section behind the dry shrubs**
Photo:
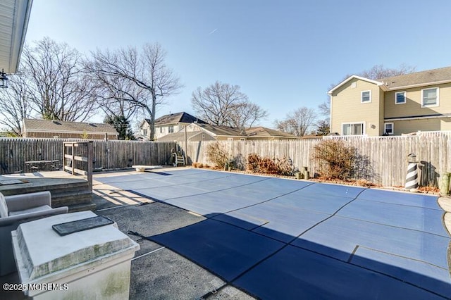
<svg viewBox="0 0 451 300"><path fill-rule="evenodd" d="M437 185L443 172L451 172L451 133L422 132L415 136L400 137L325 137L341 139L357 149L356 178L384 186L403 186L407 173L407 156L416 154L419 161L420 184ZM297 168L307 166L311 175L318 165L311 160L314 146L322 139L274 141L220 141L231 158L245 165L247 155L290 158ZM180 143L188 156L188 163L211 164L206 148L211 141Z"/></svg>

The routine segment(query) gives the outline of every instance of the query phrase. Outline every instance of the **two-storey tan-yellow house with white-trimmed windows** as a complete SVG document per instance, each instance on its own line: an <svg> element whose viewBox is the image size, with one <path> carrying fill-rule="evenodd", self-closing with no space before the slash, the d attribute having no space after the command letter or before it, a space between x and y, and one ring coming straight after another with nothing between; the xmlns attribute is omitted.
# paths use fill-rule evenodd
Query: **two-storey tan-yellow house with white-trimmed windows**
<svg viewBox="0 0 451 300"><path fill-rule="evenodd" d="M340 135L451 130L451 67L380 80L352 75L328 94L330 132Z"/></svg>

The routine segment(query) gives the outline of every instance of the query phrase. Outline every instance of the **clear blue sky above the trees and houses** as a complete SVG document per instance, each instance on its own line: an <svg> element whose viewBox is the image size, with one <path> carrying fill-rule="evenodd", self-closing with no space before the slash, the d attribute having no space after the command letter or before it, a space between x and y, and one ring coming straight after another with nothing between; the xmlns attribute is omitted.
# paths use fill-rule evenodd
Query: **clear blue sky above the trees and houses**
<svg viewBox="0 0 451 300"><path fill-rule="evenodd" d="M373 65L450 66L450 11L450 0L34 0L26 41L85 54L159 42L185 88L157 117L194 114L194 89L219 80L239 85L272 127Z"/></svg>

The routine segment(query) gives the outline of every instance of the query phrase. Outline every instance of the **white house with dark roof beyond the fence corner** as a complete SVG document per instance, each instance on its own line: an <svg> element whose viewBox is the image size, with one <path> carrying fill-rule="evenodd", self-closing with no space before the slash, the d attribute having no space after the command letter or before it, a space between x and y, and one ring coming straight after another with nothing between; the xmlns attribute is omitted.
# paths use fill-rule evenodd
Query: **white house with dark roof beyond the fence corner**
<svg viewBox="0 0 451 300"><path fill-rule="evenodd" d="M150 123L151 120L144 119L140 124L140 136L150 138ZM170 133L178 132L183 127L190 125L191 123L204 124L204 120L200 120L189 113L170 113L163 115L160 118L155 119L155 139L159 140L160 137L168 135Z"/></svg>

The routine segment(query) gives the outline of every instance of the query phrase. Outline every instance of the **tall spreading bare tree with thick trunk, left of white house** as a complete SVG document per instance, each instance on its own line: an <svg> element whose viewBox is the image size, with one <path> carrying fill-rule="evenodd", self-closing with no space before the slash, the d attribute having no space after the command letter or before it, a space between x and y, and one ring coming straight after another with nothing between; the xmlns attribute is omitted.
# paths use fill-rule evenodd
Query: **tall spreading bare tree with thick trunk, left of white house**
<svg viewBox="0 0 451 300"><path fill-rule="evenodd" d="M92 53L92 62L87 64L87 71L96 73L97 77L109 77L110 80L124 80L124 84L134 84L138 89L130 90L109 85L116 89L116 99L144 111L150 116L150 138L155 133L156 106L163 104L167 96L177 93L183 85L173 71L165 64L166 51L159 44L145 44L141 51L135 47ZM114 97L113 97L114 99Z"/></svg>

